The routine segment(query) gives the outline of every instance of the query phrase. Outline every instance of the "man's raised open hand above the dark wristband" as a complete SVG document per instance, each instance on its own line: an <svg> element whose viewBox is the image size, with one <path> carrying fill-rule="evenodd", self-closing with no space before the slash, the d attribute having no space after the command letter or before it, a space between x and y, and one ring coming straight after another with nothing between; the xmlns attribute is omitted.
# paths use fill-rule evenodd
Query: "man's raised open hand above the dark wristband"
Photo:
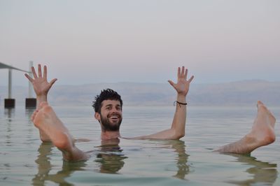
<svg viewBox="0 0 280 186"><path fill-rule="evenodd" d="M182 66L182 69L178 67L177 73L177 83L174 83L172 80L168 80L170 85L174 87L174 89L183 96L188 94L188 90L190 87L190 82L193 80L194 76L191 76L189 80L187 80L188 69L185 69L185 66Z"/></svg>

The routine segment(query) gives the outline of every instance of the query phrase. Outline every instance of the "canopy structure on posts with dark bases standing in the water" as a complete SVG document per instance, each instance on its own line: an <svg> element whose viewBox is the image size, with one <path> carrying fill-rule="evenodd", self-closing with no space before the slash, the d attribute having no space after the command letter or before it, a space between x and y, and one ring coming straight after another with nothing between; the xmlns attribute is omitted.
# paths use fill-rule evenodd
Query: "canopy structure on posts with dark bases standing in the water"
<svg viewBox="0 0 280 186"><path fill-rule="evenodd" d="M4 101L5 108L15 108L15 99L12 98L12 70L29 73L29 76L32 77L31 66L33 66L33 62L29 62L29 71L25 71L0 62L0 69L8 69L8 98L6 98ZM32 96L31 92L32 92L32 85L29 82L29 94L28 94L28 98L25 99L26 108L36 107L36 99L31 97Z"/></svg>

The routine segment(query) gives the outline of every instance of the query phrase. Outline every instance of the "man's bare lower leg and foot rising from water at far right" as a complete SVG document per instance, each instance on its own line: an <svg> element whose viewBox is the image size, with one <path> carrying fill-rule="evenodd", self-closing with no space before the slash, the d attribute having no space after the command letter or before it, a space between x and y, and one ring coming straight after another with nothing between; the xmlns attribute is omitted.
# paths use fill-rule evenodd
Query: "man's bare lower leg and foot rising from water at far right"
<svg viewBox="0 0 280 186"><path fill-rule="evenodd" d="M253 122L251 131L239 141L225 145L216 151L248 154L256 148L269 145L275 141L275 117L261 101L258 101L257 106L258 114Z"/></svg>

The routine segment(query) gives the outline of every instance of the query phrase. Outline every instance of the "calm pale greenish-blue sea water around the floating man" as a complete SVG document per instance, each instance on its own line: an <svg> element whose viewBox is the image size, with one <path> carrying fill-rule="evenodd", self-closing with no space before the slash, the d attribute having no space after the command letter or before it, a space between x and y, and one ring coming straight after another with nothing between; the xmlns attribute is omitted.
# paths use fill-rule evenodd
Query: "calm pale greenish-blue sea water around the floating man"
<svg viewBox="0 0 280 186"><path fill-rule="evenodd" d="M100 146L100 127L90 106L54 107L76 138L92 151L87 162L69 163L51 143L41 143L29 120L33 110L0 109L0 185L280 185L280 124L276 141L244 155L211 152L251 129L256 108L188 106L180 141L121 139ZM124 137L167 129L174 107L123 109ZM270 108L279 118L280 108Z"/></svg>

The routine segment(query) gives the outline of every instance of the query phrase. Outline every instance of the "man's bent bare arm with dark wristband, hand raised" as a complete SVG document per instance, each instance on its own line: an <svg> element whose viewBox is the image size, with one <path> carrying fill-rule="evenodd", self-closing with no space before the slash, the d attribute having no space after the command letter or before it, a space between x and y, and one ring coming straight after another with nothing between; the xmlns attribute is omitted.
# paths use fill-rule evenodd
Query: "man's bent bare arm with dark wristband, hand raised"
<svg viewBox="0 0 280 186"><path fill-rule="evenodd" d="M188 69L185 69L184 66L182 68L179 67L177 73L177 83L174 83L172 80L168 81L169 84L176 90L178 101L176 102L176 111L171 128L148 136L139 136L134 139L179 139L185 136L187 110L186 104L180 103L186 103L186 96L188 94L190 82L194 78L194 76L192 76L189 80L187 80L187 76Z"/></svg>

